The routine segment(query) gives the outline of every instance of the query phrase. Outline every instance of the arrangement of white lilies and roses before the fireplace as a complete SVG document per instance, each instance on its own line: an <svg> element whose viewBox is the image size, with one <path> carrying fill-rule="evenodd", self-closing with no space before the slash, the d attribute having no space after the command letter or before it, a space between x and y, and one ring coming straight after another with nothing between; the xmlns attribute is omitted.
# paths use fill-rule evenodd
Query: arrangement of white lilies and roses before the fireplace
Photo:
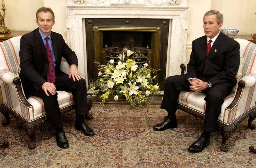
<svg viewBox="0 0 256 168"><path fill-rule="evenodd" d="M107 65L95 61L99 77L88 85L88 89L96 90L94 94L102 93L100 98L103 104L109 95L116 94L114 100L117 101L118 96L125 96L132 107L137 107L142 102L149 105L147 97L159 91L159 86L153 85L157 76L151 77L151 72L158 70L150 70L148 64L141 61L142 57L144 55L141 53L126 49L126 53L117 55L117 65L113 58L110 58Z"/></svg>

